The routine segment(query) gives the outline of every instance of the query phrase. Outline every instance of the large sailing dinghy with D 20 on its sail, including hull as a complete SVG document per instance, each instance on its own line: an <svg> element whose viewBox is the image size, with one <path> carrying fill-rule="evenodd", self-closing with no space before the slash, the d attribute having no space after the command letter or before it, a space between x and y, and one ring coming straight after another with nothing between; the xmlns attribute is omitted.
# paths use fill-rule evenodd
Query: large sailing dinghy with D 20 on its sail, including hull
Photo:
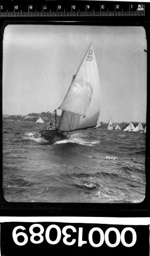
<svg viewBox="0 0 150 256"><path fill-rule="evenodd" d="M40 136L50 144L68 138L72 131L95 127L100 114L100 79L92 43L59 109L61 119L53 130L42 130ZM56 113L56 111L55 111Z"/></svg>

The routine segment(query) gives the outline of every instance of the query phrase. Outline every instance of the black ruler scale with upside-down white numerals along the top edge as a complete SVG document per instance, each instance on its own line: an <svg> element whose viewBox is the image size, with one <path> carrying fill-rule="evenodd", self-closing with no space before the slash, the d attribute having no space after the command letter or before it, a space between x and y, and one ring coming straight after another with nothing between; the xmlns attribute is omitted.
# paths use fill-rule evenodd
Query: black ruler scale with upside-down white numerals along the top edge
<svg viewBox="0 0 150 256"><path fill-rule="evenodd" d="M150 16L150 3L104 1L0 2L0 17L144 17Z"/></svg>

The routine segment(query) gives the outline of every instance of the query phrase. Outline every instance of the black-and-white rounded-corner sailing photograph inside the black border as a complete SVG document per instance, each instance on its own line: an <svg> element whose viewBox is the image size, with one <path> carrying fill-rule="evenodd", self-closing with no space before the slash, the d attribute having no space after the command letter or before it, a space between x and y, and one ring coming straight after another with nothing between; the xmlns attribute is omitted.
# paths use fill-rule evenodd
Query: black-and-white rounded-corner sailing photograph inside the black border
<svg viewBox="0 0 150 256"><path fill-rule="evenodd" d="M8 202L144 200L143 27L9 24L2 86Z"/></svg>

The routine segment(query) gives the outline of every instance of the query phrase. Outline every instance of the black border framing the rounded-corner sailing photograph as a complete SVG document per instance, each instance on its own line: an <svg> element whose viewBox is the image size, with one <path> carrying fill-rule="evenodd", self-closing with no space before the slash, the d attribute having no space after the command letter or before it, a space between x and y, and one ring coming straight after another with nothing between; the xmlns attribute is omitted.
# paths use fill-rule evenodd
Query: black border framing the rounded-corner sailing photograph
<svg viewBox="0 0 150 256"><path fill-rule="evenodd" d="M77 2L77 1L76 1ZM111 2L112 3L112 2ZM0 216L150 216L150 17L130 17L120 18L100 18L85 21L66 21L60 18L2 18L0 21L0 95L2 96L2 53L3 53L3 33L8 24L54 24L54 25L94 25L94 26L143 26L147 37L147 132L146 132L146 193L142 203L10 203L3 195L2 184L2 121L0 122ZM74 22L72 22L74 21ZM0 97L0 118L2 120L2 97Z"/></svg>

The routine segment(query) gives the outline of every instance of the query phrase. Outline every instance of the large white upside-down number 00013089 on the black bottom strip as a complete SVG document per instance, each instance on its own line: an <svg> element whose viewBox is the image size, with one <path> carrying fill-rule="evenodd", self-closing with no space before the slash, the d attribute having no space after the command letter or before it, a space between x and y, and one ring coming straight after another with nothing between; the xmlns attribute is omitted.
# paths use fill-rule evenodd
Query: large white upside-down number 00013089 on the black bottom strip
<svg viewBox="0 0 150 256"><path fill-rule="evenodd" d="M39 232L35 233L33 231L34 228L38 228ZM51 233L52 232L51 229L53 229L53 231L56 232L55 240ZM20 230L23 230L24 232L19 232ZM12 238L16 245L22 246L22 245L26 245L28 243L28 235L27 235L27 233L25 233L25 230L26 230L26 228L23 226L17 226L13 229ZM71 239L70 230L71 230L71 233L72 232L76 233L76 239L75 238ZM111 243L111 241L109 240L110 232L113 232L113 235L115 238L114 243ZM128 243L126 241L126 232L130 232L132 235L132 241L130 243ZM98 227L91 228L89 230L87 241L83 240L83 228L78 228L78 230L77 230L72 225L67 225L67 226L63 227L61 230L61 228L59 228L59 226L52 224L48 228L46 228L46 230L44 232L44 227L41 224L36 223L36 224L33 224L30 226L29 233L30 233L30 241L33 244L41 244L44 241L44 239L46 239L47 243L49 243L50 245L56 245L62 239L62 241L65 245L74 245L77 241L78 247L81 247L82 245L87 244L87 243L89 245L91 245L92 247L100 247L104 243L109 247L117 247L120 243L125 247L132 247L133 245L135 245L136 240L137 240L137 235L136 235L135 230L130 227L123 228L121 233L119 232L119 230L117 228L113 228L113 227L107 228L106 232L103 232L103 230ZM94 237L93 237L94 233L97 234L98 243L95 243L95 241L94 241ZM62 235L63 235L63 238L62 238ZM52 236L52 240L51 240L51 236ZM19 237L21 238L21 240L19 239Z"/></svg>

